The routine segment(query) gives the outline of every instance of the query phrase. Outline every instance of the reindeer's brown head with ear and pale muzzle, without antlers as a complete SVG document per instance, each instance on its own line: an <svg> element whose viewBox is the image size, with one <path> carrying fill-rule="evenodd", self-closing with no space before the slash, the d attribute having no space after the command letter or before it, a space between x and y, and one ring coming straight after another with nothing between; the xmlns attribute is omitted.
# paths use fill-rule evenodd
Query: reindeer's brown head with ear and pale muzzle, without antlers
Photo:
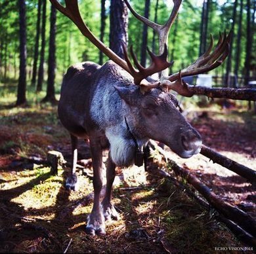
<svg viewBox="0 0 256 254"><path fill-rule="evenodd" d="M164 143L182 158L200 153L202 140L177 109L177 98L162 90L152 88L140 92L135 86L116 87L119 96L133 111L127 116L137 136Z"/></svg>

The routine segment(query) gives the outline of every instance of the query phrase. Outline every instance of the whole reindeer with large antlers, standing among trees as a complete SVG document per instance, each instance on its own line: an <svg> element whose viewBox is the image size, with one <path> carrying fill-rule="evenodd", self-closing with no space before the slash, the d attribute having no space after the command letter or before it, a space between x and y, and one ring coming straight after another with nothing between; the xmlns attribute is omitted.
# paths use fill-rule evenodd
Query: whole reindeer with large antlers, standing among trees
<svg viewBox="0 0 256 254"><path fill-rule="evenodd" d="M63 7L57 0L51 3L68 16L95 46L110 61L100 66L93 62L72 65L64 76L58 115L63 126L70 132L72 141L72 173L66 181L66 187L75 189L77 177L77 138L89 139L93 160L94 202L88 217L86 232L91 235L104 235L104 221L118 219L116 209L111 202L112 183L116 166L128 167L140 164L142 147L149 139L164 143L182 158L200 153L202 139L177 109L178 100L169 90L175 90L182 96L192 96L182 77L196 75L214 69L228 54L230 35L220 35L219 43L211 53L211 45L194 64L179 73L168 75L166 69L173 64L167 62L166 41L169 29L181 5L174 0L174 7L164 26L160 26L140 16L125 0L133 14L158 32L160 56L150 50L152 58L149 67L142 67L133 49L131 56L136 67L131 64L127 48L123 46L125 60L119 58L110 48L89 31L79 13L77 0L65 0ZM154 73L160 73L158 81L147 81ZM106 194L100 202L102 189L102 149L109 147L106 168Z"/></svg>

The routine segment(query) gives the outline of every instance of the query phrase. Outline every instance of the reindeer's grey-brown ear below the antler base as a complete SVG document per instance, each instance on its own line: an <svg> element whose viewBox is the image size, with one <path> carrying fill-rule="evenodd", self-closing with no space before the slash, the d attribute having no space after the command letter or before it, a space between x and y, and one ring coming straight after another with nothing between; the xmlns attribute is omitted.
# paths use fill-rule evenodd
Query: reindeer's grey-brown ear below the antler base
<svg viewBox="0 0 256 254"><path fill-rule="evenodd" d="M129 105L138 105L140 101L140 89L134 86L114 86L119 96Z"/></svg>

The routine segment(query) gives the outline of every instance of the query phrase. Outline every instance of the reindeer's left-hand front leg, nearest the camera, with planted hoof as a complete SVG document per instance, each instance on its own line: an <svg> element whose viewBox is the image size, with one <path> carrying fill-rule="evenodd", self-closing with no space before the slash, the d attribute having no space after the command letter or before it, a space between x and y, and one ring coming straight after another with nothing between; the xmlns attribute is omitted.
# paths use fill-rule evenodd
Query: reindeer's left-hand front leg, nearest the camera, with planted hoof
<svg viewBox="0 0 256 254"><path fill-rule="evenodd" d="M105 221L100 209L100 191L102 189L102 147L100 140L90 139L91 155L93 159L93 189L94 201L93 210L88 216L86 232L95 236L95 233L100 235L106 234Z"/></svg>

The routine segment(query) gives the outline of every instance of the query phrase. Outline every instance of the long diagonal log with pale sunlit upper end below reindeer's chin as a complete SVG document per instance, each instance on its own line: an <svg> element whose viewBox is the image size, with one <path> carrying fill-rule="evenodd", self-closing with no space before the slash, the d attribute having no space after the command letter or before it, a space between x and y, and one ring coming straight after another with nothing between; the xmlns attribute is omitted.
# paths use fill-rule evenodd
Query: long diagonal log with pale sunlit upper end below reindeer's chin
<svg viewBox="0 0 256 254"><path fill-rule="evenodd" d="M238 226L243 228L245 231L247 231L252 236L256 236L256 221L253 220L253 218L242 211L239 208L236 208L236 206L232 206L228 204L227 202L224 202L220 198L217 197L217 195L212 192L209 187L204 185L197 177L192 175L188 170L185 170L184 168L181 168L174 162L169 154L165 153L161 147L158 147L156 142L150 141L150 143L161 153L167 161L169 162L171 166L171 170L175 172L176 175L181 176L183 179L186 179L190 185L192 185L202 196L209 202L209 204L215 208L221 215L224 215L227 219L230 219L231 221L234 221L234 223L237 223Z"/></svg>

